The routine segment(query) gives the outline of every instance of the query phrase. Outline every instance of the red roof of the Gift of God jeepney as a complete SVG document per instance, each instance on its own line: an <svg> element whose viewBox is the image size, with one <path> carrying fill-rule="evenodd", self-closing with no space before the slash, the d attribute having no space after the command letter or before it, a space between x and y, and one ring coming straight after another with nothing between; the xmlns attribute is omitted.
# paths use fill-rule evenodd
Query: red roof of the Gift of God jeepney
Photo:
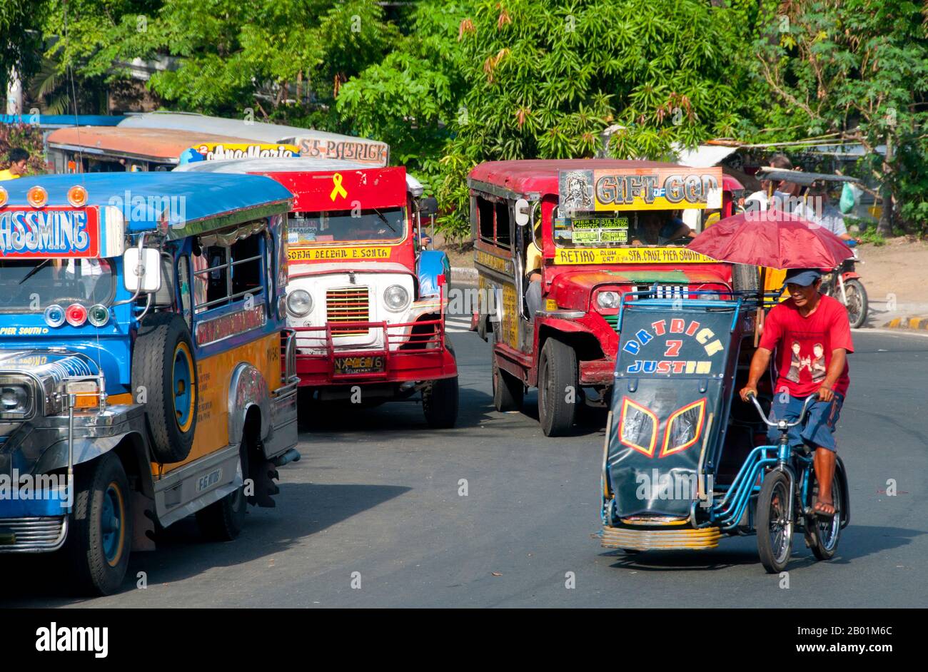
<svg viewBox="0 0 928 672"><path fill-rule="evenodd" d="M491 184L514 194L558 194L558 171L634 170L636 168L679 168L689 166L664 161L638 161L619 158L533 158L516 161L487 161L468 175L468 186ZM723 175L726 189L741 189L736 180Z"/></svg>

